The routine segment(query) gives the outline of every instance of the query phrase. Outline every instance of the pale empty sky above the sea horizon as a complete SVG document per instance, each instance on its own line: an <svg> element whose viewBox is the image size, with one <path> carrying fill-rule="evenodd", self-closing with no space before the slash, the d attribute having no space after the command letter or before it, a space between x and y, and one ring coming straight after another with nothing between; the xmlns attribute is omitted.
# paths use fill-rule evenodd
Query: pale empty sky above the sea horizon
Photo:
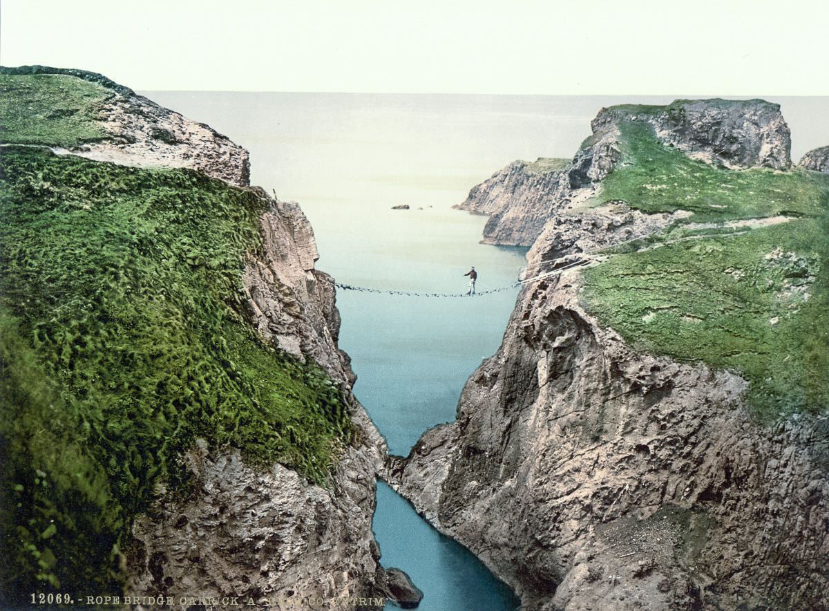
<svg viewBox="0 0 829 611"><path fill-rule="evenodd" d="M826 2L0 2L2 65L135 90L829 95Z"/></svg>

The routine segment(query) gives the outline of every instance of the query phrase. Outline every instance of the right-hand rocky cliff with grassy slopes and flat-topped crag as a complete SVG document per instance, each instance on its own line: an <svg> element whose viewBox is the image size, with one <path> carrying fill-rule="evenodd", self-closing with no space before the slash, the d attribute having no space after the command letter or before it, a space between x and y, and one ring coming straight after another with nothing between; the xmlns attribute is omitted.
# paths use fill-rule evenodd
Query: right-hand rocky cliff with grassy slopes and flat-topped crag
<svg viewBox="0 0 829 611"><path fill-rule="evenodd" d="M822 314L793 297L825 299L827 271L775 274L825 257L829 185L779 172L773 104L616 107L593 127L525 277L593 264L527 283L457 421L386 477L526 609L827 608L827 374L806 354L827 346L805 346ZM781 201L794 184L820 187ZM786 388L798 368L817 386Z"/></svg>

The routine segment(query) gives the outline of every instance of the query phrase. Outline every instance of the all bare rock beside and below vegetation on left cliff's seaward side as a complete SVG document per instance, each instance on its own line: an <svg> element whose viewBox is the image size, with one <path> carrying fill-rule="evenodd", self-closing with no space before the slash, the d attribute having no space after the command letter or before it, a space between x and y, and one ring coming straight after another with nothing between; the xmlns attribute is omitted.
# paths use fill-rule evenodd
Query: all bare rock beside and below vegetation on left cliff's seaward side
<svg viewBox="0 0 829 611"><path fill-rule="evenodd" d="M135 523L141 545L130 559L129 588L174 599L239 596L261 605L293 599L289 609L380 599L388 579L371 520L385 442L351 395L354 376L337 348L335 290L330 276L313 267L311 225L296 204L259 195L270 204L261 217L264 252L248 261L244 276L255 327L287 352L316 361L340 384L359 434L342 449L327 488L279 464L251 468L235 449L192 450L186 457L191 496L175 503L160 496Z"/></svg>

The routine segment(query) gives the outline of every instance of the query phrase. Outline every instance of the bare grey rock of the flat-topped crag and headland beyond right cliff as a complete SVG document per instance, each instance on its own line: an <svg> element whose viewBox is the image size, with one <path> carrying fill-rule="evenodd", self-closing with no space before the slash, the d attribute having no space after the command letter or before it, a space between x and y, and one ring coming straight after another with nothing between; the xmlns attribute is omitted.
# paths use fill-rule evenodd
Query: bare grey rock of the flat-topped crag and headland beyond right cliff
<svg viewBox="0 0 829 611"><path fill-rule="evenodd" d="M585 227L601 223L581 204L595 195L622 160L619 124L626 121L646 122L662 143L704 162L778 170L792 165L791 135L778 104L703 99L676 100L667 106L613 106L599 111L591 123L592 135L571 162L512 162L473 187L456 207L489 216L483 230L486 244L530 246L546 221L570 211L584 219Z"/></svg>

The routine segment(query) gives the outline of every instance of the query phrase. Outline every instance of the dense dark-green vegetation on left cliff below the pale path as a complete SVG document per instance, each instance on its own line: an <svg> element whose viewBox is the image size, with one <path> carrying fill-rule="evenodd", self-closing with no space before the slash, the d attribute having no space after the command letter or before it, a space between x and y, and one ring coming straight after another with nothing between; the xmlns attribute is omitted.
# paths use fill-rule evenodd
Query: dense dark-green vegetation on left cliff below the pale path
<svg viewBox="0 0 829 611"><path fill-rule="evenodd" d="M190 170L2 150L0 579L114 592L133 516L198 438L324 483L340 390L245 320L267 202Z"/></svg>

